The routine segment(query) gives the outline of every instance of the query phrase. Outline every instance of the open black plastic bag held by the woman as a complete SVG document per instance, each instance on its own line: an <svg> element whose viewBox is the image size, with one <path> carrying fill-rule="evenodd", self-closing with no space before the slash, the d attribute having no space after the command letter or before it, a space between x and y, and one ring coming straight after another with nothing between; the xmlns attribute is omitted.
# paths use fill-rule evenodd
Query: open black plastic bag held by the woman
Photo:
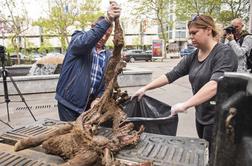
<svg viewBox="0 0 252 166"><path fill-rule="evenodd" d="M143 117L139 120L133 118L132 122L136 129L143 124L145 132L176 136L178 116L169 117L171 106L147 95L144 95L140 101L137 97L128 100L122 106L128 117Z"/></svg>

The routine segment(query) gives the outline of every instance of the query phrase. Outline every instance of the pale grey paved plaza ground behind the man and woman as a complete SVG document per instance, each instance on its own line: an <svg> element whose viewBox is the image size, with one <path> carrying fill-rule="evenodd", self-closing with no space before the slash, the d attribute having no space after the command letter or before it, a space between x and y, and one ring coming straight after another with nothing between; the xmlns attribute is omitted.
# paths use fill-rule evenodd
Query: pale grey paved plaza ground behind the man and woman
<svg viewBox="0 0 252 166"><path fill-rule="evenodd" d="M152 70L152 77L153 79L155 79L161 74L171 70L172 67L177 64L179 60L180 59L178 58L167 59L164 62L136 62L128 63L128 65ZM34 85L34 88L36 88L36 85ZM139 88L140 87L130 87L126 88L126 90L128 91L129 95L132 95ZM162 88L151 90L147 92L147 95L152 96L160 101L163 101L168 105L173 105L177 102L182 102L188 99L192 95L192 92L190 84L188 82L188 77L183 77L172 83L171 85L166 85ZM54 96L54 93L48 93L25 95L24 98L26 99L28 105L31 107L31 111L37 120L43 118L58 119L57 106ZM7 121L7 109L4 100L5 99L3 96L0 97L0 102L3 102L0 104L0 119L3 121ZM27 125L34 122L28 109L25 108L24 103L20 102L21 99L19 96L10 96L10 100L11 102L9 103L9 124L12 127L17 128L18 126ZM194 109L189 110L186 114L179 114L177 135L185 137L197 137L194 122ZM8 130L10 130L10 128L0 122L0 134Z"/></svg>

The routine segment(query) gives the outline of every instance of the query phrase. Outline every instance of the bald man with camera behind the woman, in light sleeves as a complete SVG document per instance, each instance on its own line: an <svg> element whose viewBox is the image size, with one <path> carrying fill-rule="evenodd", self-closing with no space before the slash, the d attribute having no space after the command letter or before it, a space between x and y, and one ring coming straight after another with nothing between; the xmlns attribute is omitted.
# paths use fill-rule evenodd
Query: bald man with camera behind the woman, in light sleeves
<svg viewBox="0 0 252 166"><path fill-rule="evenodd" d="M243 30L244 24L242 19L236 18L231 21L235 28L235 33L227 34L229 46L234 50L238 56L238 72L247 72L247 55L250 55L252 49L252 35Z"/></svg>

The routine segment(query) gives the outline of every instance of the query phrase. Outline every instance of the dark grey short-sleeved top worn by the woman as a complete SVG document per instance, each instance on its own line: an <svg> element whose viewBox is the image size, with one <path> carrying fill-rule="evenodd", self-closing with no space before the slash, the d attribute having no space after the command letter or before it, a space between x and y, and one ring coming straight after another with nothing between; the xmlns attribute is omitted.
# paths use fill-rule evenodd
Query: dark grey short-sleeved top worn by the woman
<svg viewBox="0 0 252 166"><path fill-rule="evenodd" d="M234 51L227 45L218 43L204 61L198 61L198 50L185 56L172 71L166 74L169 83L189 75L193 94L196 94L210 80L218 81L224 72L237 70L238 60ZM196 119L203 125L214 122L214 106L210 104L214 97L196 106Z"/></svg>

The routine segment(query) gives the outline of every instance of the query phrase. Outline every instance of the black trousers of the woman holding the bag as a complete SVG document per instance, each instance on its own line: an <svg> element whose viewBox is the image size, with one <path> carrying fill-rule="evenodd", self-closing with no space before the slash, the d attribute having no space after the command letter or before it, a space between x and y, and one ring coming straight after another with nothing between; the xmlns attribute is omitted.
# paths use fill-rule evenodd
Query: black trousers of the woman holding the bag
<svg viewBox="0 0 252 166"><path fill-rule="evenodd" d="M212 136L213 136L213 127L214 124L209 124L209 125L203 125L200 124L199 122L197 122L196 120L196 129L197 129L197 133L199 138L203 138L205 140L208 141L209 143L209 155L211 152L211 146L212 146Z"/></svg>

